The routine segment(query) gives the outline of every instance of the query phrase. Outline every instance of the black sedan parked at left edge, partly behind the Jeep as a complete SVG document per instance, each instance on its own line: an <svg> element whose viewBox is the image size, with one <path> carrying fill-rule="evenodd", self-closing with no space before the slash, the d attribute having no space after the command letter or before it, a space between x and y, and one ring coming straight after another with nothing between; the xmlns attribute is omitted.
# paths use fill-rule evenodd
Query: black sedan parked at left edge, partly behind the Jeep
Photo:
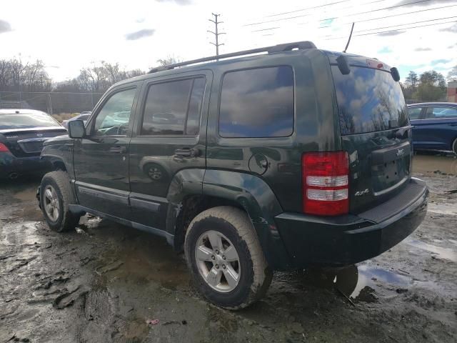
<svg viewBox="0 0 457 343"><path fill-rule="evenodd" d="M48 161L40 160L46 139L66 134L56 119L33 109L0 109L0 178L43 173Z"/></svg>

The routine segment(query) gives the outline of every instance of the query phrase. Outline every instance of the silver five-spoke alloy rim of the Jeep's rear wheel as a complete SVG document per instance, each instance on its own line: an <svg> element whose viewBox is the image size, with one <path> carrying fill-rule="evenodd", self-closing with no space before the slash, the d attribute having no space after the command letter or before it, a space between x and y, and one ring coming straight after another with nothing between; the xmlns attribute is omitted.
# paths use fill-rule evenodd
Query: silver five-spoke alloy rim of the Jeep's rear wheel
<svg viewBox="0 0 457 343"><path fill-rule="evenodd" d="M238 252L230 239L217 231L200 235L195 247L195 260L206 284L218 292L231 292L241 277Z"/></svg>

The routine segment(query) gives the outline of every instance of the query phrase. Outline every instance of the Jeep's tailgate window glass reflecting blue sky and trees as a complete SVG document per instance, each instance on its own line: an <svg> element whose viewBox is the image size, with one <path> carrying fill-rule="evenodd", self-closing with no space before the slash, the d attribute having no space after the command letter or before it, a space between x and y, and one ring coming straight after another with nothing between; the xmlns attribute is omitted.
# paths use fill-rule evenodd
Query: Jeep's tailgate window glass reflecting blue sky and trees
<svg viewBox="0 0 457 343"><path fill-rule="evenodd" d="M351 66L341 74L332 66L341 134L361 134L408 125L400 83L390 73Z"/></svg>

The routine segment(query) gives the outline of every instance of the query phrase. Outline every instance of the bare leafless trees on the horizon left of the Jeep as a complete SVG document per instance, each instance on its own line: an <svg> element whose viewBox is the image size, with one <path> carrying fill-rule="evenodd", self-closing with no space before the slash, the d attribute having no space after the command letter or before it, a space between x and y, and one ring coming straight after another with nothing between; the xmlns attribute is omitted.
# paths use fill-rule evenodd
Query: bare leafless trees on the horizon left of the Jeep
<svg viewBox="0 0 457 343"><path fill-rule="evenodd" d="M174 56L157 60L161 66L180 61ZM0 91L64 91L104 93L110 86L124 79L145 74L141 69L122 69L118 63L106 61L91 64L79 71L79 75L66 81L54 82L43 61L23 62L19 58L0 59Z"/></svg>

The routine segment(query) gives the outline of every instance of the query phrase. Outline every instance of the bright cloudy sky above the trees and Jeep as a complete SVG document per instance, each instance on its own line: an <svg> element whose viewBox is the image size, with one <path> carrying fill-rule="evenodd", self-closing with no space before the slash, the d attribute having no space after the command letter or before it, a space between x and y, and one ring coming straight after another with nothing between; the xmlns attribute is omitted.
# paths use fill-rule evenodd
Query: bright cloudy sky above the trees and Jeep
<svg viewBox="0 0 457 343"><path fill-rule="evenodd" d="M214 54L211 12L221 14L221 53L311 40L409 70L445 76L457 65L457 0L1 0L0 59L42 59L56 81L91 62L148 69L168 55Z"/></svg>

